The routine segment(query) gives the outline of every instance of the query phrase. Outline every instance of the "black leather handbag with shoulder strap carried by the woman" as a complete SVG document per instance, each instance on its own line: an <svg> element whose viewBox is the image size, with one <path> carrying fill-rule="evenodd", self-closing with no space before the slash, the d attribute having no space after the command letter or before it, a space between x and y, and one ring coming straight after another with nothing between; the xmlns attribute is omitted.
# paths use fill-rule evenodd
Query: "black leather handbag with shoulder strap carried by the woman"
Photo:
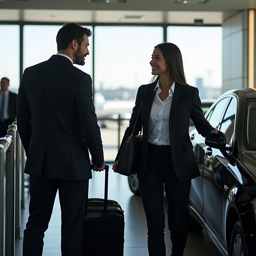
<svg viewBox="0 0 256 256"><path fill-rule="evenodd" d="M147 87L144 91L141 104L142 104L146 90L147 90ZM141 105L140 105L140 110L138 112L136 122L133 127L132 134L126 139L124 143L124 146L122 148L122 151L119 157L118 166L116 168L118 173L125 176L131 176L131 175L137 174L137 169L140 166L141 147L142 147L141 131L139 135L133 135L136 129L136 124L138 121L138 117L140 115L140 111L141 111Z"/></svg>

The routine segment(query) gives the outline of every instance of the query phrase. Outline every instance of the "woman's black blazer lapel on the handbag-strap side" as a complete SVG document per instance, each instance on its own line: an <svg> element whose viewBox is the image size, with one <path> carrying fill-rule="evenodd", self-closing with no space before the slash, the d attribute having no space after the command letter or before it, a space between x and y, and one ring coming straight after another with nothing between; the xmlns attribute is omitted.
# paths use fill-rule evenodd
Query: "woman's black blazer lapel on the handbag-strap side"
<svg viewBox="0 0 256 256"><path fill-rule="evenodd" d="M154 83L151 83L148 85L148 88L145 92L144 98L143 98L143 104L142 104L142 120L146 122L146 127L148 127L149 124L149 118L150 118L150 112L155 96L155 87L156 87L157 81Z"/></svg>

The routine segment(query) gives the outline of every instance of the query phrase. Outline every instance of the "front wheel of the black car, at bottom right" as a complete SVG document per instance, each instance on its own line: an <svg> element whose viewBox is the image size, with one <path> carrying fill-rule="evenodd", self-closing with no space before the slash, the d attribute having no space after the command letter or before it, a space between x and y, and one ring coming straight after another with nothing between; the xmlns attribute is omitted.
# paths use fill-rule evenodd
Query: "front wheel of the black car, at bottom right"
<svg viewBox="0 0 256 256"><path fill-rule="evenodd" d="M233 227L231 242L230 242L230 256L248 256L245 237L240 221L237 221Z"/></svg>

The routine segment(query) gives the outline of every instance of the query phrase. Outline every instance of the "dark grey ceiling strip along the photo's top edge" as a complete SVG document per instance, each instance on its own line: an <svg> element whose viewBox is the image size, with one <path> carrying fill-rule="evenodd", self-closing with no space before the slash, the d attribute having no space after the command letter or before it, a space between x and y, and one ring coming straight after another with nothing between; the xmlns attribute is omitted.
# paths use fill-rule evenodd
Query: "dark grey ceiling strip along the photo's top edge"
<svg viewBox="0 0 256 256"><path fill-rule="evenodd" d="M127 0L125 3L93 3L88 0L0 1L0 8L79 10L236 11L256 8L255 0L210 0L205 4L175 4L176 0ZM188 2L188 1L187 1Z"/></svg>

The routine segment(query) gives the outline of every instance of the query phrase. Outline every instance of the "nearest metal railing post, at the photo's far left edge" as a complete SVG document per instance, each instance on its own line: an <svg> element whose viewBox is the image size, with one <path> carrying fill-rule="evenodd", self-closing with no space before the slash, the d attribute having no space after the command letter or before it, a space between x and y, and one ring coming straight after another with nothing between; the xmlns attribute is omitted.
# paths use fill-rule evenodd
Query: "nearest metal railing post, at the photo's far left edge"
<svg viewBox="0 0 256 256"><path fill-rule="evenodd" d="M6 151L11 143L11 136L0 138L0 256L5 255L5 163Z"/></svg>

